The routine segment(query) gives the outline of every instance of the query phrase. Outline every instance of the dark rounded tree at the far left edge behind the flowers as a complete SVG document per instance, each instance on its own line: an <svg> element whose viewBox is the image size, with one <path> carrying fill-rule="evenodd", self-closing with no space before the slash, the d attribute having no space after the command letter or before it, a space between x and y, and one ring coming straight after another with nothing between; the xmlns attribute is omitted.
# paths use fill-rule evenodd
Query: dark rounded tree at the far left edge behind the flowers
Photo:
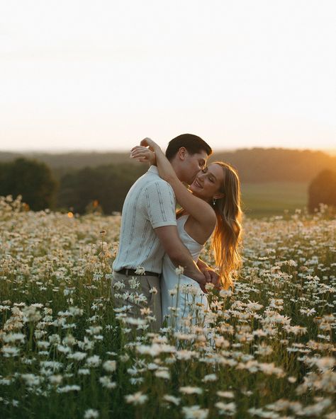
<svg viewBox="0 0 336 419"><path fill-rule="evenodd" d="M57 182L45 163L20 158L0 165L0 195L22 195L30 209L52 208L56 191Z"/></svg>

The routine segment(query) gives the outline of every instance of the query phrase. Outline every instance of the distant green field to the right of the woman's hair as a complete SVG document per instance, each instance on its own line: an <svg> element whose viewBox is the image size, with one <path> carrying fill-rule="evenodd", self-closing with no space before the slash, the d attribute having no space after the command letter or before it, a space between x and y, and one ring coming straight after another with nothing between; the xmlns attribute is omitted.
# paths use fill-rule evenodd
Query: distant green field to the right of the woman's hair
<svg viewBox="0 0 336 419"><path fill-rule="evenodd" d="M293 214L308 203L308 183L242 183L242 209L248 217Z"/></svg>

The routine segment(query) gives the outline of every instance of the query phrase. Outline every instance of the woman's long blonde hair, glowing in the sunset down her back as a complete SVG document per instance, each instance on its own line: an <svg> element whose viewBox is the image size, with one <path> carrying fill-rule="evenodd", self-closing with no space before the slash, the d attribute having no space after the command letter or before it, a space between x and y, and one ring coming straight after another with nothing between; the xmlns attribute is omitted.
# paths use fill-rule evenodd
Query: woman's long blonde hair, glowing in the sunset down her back
<svg viewBox="0 0 336 419"><path fill-rule="evenodd" d="M217 224L213 231L211 249L215 264L225 288L233 286L232 272L241 263L240 241L242 237L242 209L240 207L240 180L235 168L223 161L213 162L223 168L224 182L220 192L224 197L215 200L213 209Z"/></svg>

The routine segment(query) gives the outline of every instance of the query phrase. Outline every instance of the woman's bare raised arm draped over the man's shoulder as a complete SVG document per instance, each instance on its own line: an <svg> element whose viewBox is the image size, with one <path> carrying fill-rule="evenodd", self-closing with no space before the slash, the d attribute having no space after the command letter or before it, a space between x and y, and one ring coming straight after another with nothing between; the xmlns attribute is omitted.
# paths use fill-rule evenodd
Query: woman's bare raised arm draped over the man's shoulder
<svg viewBox="0 0 336 419"><path fill-rule="evenodd" d="M159 176L172 185L179 205L181 205L191 217L194 217L200 224L204 225L208 231L213 231L216 217L215 212L211 206L208 205L208 202L194 196L186 189L184 184L177 178L174 168L167 157L164 156L160 147L152 141L152 139L143 139L140 144L142 146L149 146L150 150L155 152ZM134 149L132 149L131 157L133 157L133 159L144 159L146 156L148 156L148 151L145 151L143 147L134 147Z"/></svg>

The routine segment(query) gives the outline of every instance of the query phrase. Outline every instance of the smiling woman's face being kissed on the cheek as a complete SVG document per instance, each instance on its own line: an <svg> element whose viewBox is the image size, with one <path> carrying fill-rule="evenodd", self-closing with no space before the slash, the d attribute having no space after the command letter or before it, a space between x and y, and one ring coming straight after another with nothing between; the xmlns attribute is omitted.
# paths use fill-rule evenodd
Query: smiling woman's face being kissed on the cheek
<svg viewBox="0 0 336 419"><path fill-rule="evenodd" d="M211 163L197 173L189 189L202 200L212 202L213 198L223 197L223 193L220 193L220 190L223 189L223 183L223 167L219 164Z"/></svg>

